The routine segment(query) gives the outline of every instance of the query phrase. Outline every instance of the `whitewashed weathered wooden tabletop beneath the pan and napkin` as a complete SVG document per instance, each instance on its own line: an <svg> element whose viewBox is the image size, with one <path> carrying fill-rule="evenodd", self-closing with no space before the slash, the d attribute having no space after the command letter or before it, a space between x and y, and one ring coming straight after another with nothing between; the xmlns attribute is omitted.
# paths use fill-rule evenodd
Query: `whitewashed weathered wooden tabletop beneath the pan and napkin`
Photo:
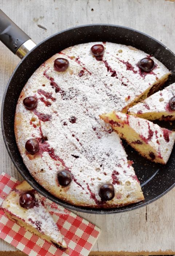
<svg viewBox="0 0 175 256"><path fill-rule="evenodd" d="M111 23L143 31L175 52L175 2L172 0L0 0L0 8L36 43L69 27ZM0 43L1 101L19 61ZM1 172L21 180L8 156L2 134L0 157ZM91 256L175 254L175 188L135 211L113 215L77 214L102 229ZM4 241L0 241L0 251L0 255L5 256L24 255Z"/></svg>

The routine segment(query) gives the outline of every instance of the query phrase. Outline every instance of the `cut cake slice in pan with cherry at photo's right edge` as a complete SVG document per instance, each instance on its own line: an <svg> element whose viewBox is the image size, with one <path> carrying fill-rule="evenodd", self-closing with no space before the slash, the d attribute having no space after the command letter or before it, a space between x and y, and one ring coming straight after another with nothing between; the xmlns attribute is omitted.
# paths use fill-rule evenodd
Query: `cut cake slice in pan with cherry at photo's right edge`
<svg viewBox="0 0 175 256"><path fill-rule="evenodd" d="M175 83L132 106L128 113L148 120L175 120Z"/></svg>

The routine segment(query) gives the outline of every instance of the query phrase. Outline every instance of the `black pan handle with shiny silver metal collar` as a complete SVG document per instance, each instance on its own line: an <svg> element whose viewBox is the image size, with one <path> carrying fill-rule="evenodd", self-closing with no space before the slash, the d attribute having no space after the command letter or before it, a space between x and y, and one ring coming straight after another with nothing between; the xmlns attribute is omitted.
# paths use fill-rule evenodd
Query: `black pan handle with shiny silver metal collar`
<svg viewBox="0 0 175 256"><path fill-rule="evenodd" d="M20 59L36 44L8 16L0 10L0 40Z"/></svg>

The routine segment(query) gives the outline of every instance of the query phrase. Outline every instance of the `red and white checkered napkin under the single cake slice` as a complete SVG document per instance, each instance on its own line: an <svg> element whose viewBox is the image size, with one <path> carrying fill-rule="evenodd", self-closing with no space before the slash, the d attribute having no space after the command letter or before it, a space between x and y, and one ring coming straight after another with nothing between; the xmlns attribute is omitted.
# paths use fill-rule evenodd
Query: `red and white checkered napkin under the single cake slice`
<svg viewBox="0 0 175 256"><path fill-rule="evenodd" d="M0 204L19 183L8 174L0 175ZM12 222L2 210L0 210L0 238L29 256L87 256L100 234L100 229L45 197L44 200L64 236L68 245L67 251L57 249L49 242Z"/></svg>

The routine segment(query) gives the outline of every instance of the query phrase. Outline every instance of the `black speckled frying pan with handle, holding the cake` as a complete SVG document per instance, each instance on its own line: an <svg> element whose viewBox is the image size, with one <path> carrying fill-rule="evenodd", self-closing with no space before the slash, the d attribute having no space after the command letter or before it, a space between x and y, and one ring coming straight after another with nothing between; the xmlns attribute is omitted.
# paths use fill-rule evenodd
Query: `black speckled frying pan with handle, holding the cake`
<svg viewBox="0 0 175 256"><path fill-rule="evenodd" d="M13 53L17 53L18 56L21 55L21 57L27 52L28 45L31 48L35 45L32 44L31 41L28 41L30 39L28 35L21 31L20 28L17 27L2 11L0 11L0 39ZM27 43L25 43L26 41ZM134 169L142 185L145 201L123 208L98 210L72 206L47 192L29 174L29 171L25 167L19 154L15 141L13 125L16 103L20 92L29 77L53 54L60 52L69 46L92 41L109 41L118 44L131 45L143 50L156 57L172 71L172 75L166 85L175 82L175 54L167 49L166 46L146 34L127 27L103 24L79 26L61 31L45 39L28 52L17 65L9 79L5 89L1 111L4 142L7 151L20 174L33 188L53 202L72 210L88 213L107 214L129 211L155 201L175 186L175 148L172 151L168 163L165 166L162 166L142 158L130 146L124 143L128 159L134 161ZM24 46L22 49L21 45ZM27 45L26 48L25 45ZM170 125L169 123L159 122L159 125L169 129L175 127L175 123Z"/></svg>

